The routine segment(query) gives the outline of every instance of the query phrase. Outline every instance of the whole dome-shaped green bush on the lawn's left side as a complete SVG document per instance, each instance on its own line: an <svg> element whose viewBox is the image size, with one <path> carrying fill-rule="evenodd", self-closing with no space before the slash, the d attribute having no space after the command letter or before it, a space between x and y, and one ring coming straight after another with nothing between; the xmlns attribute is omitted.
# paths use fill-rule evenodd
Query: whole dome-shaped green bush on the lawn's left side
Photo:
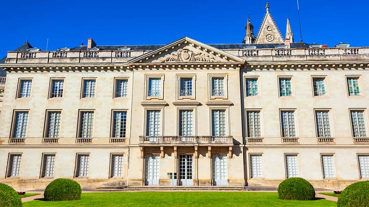
<svg viewBox="0 0 369 207"><path fill-rule="evenodd" d="M81 186L74 180L59 178L49 183L43 196L48 201L79 200Z"/></svg>

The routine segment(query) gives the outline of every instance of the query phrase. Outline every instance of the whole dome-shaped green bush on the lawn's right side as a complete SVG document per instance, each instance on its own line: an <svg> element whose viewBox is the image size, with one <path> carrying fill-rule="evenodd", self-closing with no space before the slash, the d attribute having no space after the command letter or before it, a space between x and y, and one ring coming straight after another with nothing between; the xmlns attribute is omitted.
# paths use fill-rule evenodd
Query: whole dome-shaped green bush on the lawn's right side
<svg viewBox="0 0 369 207"><path fill-rule="evenodd" d="M278 186L278 197L283 200L313 200L315 190L303 178L288 178Z"/></svg>

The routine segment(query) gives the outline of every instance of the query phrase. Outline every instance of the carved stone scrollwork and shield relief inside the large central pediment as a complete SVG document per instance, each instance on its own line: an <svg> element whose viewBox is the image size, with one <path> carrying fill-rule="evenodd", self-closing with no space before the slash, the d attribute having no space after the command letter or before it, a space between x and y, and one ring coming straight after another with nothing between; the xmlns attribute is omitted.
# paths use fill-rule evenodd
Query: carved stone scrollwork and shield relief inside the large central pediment
<svg viewBox="0 0 369 207"><path fill-rule="evenodd" d="M189 62L215 62L215 58L204 53L195 53L194 51L182 48L178 51L175 51L172 54L166 55L164 57L159 58L158 60L153 61L153 63L189 63Z"/></svg>

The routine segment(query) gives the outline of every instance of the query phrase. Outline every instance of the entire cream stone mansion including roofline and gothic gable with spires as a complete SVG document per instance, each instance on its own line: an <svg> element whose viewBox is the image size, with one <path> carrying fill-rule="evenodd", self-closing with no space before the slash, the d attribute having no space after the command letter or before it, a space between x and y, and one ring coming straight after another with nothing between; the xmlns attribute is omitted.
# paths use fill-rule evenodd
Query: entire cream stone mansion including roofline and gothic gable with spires
<svg viewBox="0 0 369 207"><path fill-rule="evenodd" d="M294 42L289 20L283 38L268 5L242 44L27 47L1 65L0 182L17 189L369 179L369 48Z"/></svg>

